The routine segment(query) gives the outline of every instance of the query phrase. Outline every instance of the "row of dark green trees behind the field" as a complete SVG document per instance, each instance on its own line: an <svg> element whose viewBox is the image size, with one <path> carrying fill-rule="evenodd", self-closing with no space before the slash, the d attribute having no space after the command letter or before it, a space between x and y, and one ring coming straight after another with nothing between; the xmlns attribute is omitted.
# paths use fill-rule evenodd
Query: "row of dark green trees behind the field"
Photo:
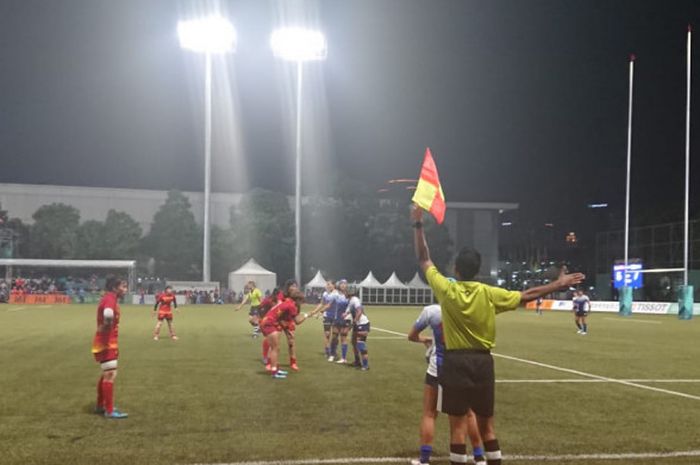
<svg viewBox="0 0 700 465"><path fill-rule="evenodd" d="M338 200L338 199L343 200ZM379 279L393 271L410 279L416 271L407 199L379 199L363 193L342 197L307 197L302 206L302 273L309 280L325 276L362 279L372 270ZM228 273L249 258L277 273L294 274L294 212L286 195L253 189L230 211L226 228L211 229L212 279L226 283ZM12 250L0 244L0 255L14 258L137 260L141 275L178 280L202 276L202 227L188 198L168 192L165 203L144 234L128 213L109 210L104 221L81 222L75 207L44 205L24 224L0 208L0 229L14 236ZM446 228L426 223L431 252L439 266L450 259L452 242Z"/></svg>

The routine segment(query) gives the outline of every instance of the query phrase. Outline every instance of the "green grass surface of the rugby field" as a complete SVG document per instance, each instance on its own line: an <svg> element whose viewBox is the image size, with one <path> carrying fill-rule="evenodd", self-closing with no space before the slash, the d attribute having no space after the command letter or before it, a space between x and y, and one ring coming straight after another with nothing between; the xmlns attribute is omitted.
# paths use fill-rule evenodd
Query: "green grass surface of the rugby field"
<svg viewBox="0 0 700 465"><path fill-rule="evenodd" d="M419 308L370 307L373 328L408 331ZM248 460L414 457L423 348L373 330L371 370L331 365L317 320L297 332L301 371L273 381L260 363L247 312L187 306L180 340L151 340L148 307L125 306L116 404L91 414L98 365L93 306L0 306L0 464L230 463ZM167 334L167 331L161 334ZM697 321L595 314L578 336L568 313L498 317L497 354L614 379L700 380ZM286 361L286 351L282 350ZM700 449L700 399L590 379L496 358L496 426L506 455ZM700 397L698 383L637 384ZM446 418L436 454L448 453ZM691 464L700 457L558 463ZM533 463L509 460L507 463Z"/></svg>

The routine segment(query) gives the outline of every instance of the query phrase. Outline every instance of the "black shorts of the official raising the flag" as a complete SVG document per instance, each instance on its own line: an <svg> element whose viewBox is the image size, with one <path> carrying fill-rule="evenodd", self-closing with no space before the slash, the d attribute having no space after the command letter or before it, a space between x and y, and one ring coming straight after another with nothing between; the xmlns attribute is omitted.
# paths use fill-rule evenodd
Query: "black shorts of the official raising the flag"
<svg viewBox="0 0 700 465"><path fill-rule="evenodd" d="M438 410L466 415L469 409L492 417L496 397L493 357L488 350L448 350L438 372L442 389Z"/></svg>

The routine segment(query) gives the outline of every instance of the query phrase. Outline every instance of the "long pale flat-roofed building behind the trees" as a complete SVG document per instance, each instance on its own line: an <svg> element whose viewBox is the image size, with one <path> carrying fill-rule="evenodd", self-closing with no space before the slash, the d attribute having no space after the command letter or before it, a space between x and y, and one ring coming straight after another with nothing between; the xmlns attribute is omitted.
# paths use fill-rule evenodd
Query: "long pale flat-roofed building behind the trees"
<svg viewBox="0 0 700 465"><path fill-rule="evenodd" d="M192 204L195 220L202 223L204 194L183 192ZM212 193L212 224L228 227L231 207L238 205L241 194ZM0 183L0 205L10 217L31 224L32 215L43 205L64 203L80 211L81 221L104 221L110 209L131 215L143 228L151 228L153 215L165 203L166 191L117 189L103 187L55 186ZM294 208L293 198L290 206ZM518 208L517 203L447 202L445 226L457 247L472 246L481 253L480 274L495 279L498 268L499 215Z"/></svg>

